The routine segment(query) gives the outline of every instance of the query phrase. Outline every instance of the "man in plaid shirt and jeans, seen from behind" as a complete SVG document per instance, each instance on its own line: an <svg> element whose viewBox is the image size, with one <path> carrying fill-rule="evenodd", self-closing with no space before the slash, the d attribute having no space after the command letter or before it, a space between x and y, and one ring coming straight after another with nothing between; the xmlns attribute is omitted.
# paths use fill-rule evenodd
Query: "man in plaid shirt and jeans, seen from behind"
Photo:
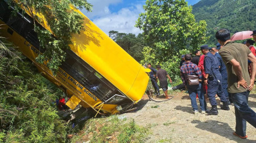
<svg viewBox="0 0 256 143"><path fill-rule="evenodd" d="M188 94L191 99L193 112L195 114L199 113L197 103L196 103L196 93L197 93L199 97L201 111L203 114L205 114L205 110L207 110L206 108L207 104L204 99L202 83L200 82L199 85L188 85L188 82L187 82L187 75L197 75L199 77L199 81L202 81L202 73L199 67L197 67L196 64L191 62L190 54L185 54L185 62L180 67L180 72L181 72L181 79L183 81L183 84L187 86L187 89L188 89Z"/></svg>

